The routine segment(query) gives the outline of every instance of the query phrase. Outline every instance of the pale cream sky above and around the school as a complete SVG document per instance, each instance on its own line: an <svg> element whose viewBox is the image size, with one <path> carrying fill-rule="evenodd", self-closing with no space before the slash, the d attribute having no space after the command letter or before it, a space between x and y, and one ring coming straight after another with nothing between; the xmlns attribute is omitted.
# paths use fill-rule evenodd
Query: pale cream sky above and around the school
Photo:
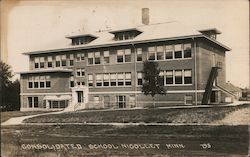
<svg viewBox="0 0 250 157"><path fill-rule="evenodd" d="M217 28L226 53L226 80L249 87L248 0L1 1L1 60L14 72L29 69L22 53L67 43L66 35L141 25L141 8L150 23L178 21L193 29ZM64 46L64 45L62 45Z"/></svg>

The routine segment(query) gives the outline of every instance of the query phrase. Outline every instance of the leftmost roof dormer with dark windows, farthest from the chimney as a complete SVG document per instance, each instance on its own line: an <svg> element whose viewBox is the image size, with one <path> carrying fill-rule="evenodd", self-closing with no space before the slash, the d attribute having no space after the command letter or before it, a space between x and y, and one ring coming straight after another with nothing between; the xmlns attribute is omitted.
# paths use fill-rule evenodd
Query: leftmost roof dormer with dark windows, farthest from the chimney
<svg viewBox="0 0 250 157"><path fill-rule="evenodd" d="M72 40L72 45L85 45L95 40L97 37L94 35L77 35L77 36L68 36Z"/></svg>

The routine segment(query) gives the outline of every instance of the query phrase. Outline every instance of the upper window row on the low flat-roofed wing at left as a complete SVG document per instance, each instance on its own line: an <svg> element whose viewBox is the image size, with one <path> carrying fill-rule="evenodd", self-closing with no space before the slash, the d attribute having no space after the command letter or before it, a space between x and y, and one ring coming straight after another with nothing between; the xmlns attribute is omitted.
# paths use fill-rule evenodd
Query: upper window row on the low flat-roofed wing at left
<svg viewBox="0 0 250 157"><path fill-rule="evenodd" d="M28 77L28 88L50 88L50 76L30 76Z"/></svg>

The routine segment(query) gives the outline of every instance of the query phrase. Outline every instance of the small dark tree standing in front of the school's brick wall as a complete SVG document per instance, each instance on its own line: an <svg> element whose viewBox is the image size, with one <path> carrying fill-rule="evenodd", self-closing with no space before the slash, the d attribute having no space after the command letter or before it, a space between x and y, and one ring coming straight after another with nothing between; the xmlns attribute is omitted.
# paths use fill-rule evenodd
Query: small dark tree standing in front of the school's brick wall
<svg viewBox="0 0 250 157"><path fill-rule="evenodd" d="M142 92L145 95L151 95L155 107L155 95L166 95L163 77L161 77L158 63L153 61L143 62L144 83L142 84Z"/></svg>

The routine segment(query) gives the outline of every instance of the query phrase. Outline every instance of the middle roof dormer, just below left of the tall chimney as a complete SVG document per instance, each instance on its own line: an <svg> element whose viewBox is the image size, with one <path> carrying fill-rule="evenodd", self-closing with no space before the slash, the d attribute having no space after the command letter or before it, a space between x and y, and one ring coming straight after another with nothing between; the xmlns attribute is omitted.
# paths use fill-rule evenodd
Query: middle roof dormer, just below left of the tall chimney
<svg viewBox="0 0 250 157"><path fill-rule="evenodd" d="M142 32L138 31L137 29L127 29L127 30L118 30L118 31L111 31L110 33L115 35L115 40L129 40L134 39L137 35L141 34Z"/></svg>

